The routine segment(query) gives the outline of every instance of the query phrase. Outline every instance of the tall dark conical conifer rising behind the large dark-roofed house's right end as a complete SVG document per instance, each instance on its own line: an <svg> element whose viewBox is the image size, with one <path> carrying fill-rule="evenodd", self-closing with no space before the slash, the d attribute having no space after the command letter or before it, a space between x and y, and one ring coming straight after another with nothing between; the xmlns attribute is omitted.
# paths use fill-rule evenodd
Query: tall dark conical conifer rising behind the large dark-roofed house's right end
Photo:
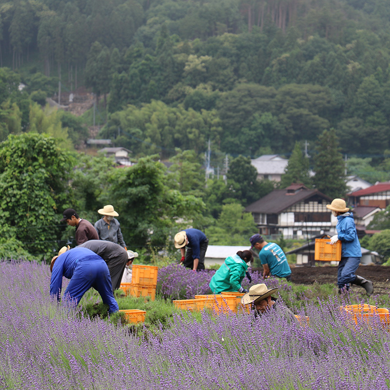
<svg viewBox="0 0 390 390"><path fill-rule="evenodd" d="M313 179L315 187L332 198L344 197L347 193L345 162L334 129L324 130L318 136L316 152Z"/></svg>

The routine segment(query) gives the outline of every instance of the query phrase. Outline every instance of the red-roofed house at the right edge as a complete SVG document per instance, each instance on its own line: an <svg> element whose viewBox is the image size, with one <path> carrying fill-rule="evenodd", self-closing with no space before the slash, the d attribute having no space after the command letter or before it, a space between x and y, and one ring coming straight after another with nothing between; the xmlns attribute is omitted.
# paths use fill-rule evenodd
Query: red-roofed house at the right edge
<svg viewBox="0 0 390 390"><path fill-rule="evenodd" d="M390 182L377 183L363 190L348 194L348 203L357 206L375 206L386 209L390 204Z"/></svg>

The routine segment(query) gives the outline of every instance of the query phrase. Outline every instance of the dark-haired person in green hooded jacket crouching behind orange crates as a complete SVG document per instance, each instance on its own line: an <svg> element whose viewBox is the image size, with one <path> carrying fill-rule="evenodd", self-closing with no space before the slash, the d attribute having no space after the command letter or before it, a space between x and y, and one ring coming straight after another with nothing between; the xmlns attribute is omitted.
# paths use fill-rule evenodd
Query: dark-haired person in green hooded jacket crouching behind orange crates
<svg viewBox="0 0 390 390"><path fill-rule="evenodd" d="M251 251L238 251L237 254L227 257L211 278L210 289L213 294L219 294L223 291L248 292L241 286L241 282L248 271L247 263L252 262L253 254Z"/></svg>

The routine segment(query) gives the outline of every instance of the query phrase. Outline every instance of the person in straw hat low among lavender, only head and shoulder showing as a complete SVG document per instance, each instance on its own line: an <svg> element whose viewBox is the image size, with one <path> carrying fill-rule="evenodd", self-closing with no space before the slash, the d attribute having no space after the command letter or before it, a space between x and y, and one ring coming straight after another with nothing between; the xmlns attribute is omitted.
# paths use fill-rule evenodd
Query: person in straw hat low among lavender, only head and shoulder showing
<svg viewBox="0 0 390 390"><path fill-rule="evenodd" d="M295 321L294 313L288 307L276 302L276 298L271 296L276 291L277 287L269 289L264 283L255 284L249 289L249 292L242 296L241 303L243 305L253 304L256 308L256 314L261 315L270 311Z"/></svg>

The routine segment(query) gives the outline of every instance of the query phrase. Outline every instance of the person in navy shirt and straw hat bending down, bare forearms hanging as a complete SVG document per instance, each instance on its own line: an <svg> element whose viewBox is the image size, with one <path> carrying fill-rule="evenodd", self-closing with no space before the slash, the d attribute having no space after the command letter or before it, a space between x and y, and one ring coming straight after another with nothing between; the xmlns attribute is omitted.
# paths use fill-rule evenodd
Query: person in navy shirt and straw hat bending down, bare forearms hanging
<svg viewBox="0 0 390 390"><path fill-rule="evenodd" d="M181 264L193 271L204 270L208 246L209 239L198 229L186 229L175 235L175 248L180 248Z"/></svg>

